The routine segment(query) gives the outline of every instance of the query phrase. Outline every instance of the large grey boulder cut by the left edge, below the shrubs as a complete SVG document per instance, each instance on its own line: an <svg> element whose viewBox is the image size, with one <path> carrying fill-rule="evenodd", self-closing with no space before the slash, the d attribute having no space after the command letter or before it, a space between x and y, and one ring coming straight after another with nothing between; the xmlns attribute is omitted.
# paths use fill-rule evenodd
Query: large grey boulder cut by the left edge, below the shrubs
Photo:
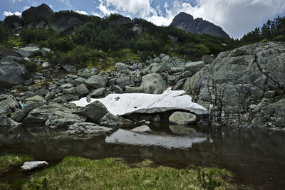
<svg viewBox="0 0 285 190"><path fill-rule="evenodd" d="M23 75L27 72L24 65L16 62L0 63L0 87L11 87L24 83Z"/></svg>

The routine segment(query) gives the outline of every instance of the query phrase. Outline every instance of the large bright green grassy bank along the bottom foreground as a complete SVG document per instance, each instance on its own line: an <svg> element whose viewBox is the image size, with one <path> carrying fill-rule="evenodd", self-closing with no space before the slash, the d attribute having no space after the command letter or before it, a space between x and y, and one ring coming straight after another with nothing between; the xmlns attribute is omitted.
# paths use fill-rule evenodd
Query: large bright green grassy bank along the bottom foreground
<svg viewBox="0 0 285 190"><path fill-rule="evenodd" d="M154 167L150 160L129 166L119 159L67 157L31 176L22 189L238 189L230 179L229 171L217 168Z"/></svg>

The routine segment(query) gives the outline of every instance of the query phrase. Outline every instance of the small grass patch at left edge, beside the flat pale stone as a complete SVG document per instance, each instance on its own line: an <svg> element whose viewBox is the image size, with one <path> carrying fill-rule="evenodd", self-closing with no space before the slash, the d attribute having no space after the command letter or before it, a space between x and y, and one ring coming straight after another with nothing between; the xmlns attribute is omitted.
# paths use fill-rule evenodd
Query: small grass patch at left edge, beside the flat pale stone
<svg viewBox="0 0 285 190"><path fill-rule="evenodd" d="M32 157L24 154L4 154L0 156L0 172L6 171L11 167L20 167L24 162L31 161Z"/></svg>

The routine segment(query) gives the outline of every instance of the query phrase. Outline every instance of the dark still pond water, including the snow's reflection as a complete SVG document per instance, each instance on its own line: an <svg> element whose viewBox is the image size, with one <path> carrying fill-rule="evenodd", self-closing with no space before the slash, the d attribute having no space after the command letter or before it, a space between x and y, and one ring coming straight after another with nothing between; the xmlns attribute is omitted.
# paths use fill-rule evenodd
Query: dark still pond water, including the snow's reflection
<svg viewBox="0 0 285 190"><path fill-rule="evenodd" d="M177 168L220 167L232 171L237 182L254 189L285 189L284 130L168 124L150 128L151 134L130 132L130 127L125 127L95 137L72 137L65 131L39 126L0 128L0 155L29 154L50 163L67 156L124 157L130 162L147 158ZM0 180L4 177L0 174Z"/></svg>

